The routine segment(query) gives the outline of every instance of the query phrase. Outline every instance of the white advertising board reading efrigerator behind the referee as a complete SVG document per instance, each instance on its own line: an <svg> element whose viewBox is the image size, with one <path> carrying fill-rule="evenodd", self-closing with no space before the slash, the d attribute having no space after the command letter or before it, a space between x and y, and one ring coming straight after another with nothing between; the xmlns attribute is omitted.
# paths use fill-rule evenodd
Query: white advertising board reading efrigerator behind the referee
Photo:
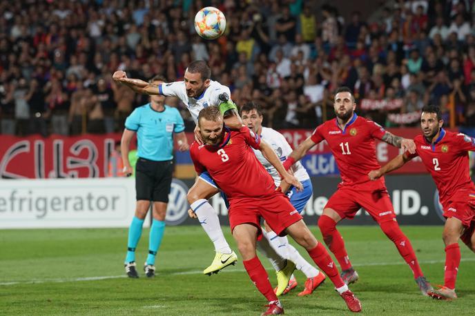
<svg viewBox="0 0 475 316"><path fill-rule="evenodd" d="M134 212L135 179L0 181L0 228L128 227Z"/></svg>

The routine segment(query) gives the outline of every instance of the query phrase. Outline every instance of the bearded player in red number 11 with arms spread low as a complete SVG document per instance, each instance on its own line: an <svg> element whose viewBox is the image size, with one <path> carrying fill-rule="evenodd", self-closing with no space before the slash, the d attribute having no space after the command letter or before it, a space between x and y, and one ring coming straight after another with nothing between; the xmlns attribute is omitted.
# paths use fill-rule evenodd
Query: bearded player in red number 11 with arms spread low
<svg viewBox="0 0 475 316"><path fill-rule="evenodd" d="M342 279L346 284L351 284L358 280L358 273L351 266L345 243L336 229L336 224L344 218L352 219L360 208L365 208L378 222L385 235L394 242L400 255L414 273L414 279L421 293L427 295L432 286L420 270L409 239L399 228L385 180L368 179L370 170L380 168L376 160L376 139L411 152L414 152L414 141L392 135L373 121L358 117L354 112L355 99L349 88L342 87L336 90L333 108L336 119L318 126L311 137L293 150L284 161L284 167L288 170L310 148L326 140L336 159L342 181L324 207L323 214L318 219L318 227L325 243L340 263Z"/></svg>

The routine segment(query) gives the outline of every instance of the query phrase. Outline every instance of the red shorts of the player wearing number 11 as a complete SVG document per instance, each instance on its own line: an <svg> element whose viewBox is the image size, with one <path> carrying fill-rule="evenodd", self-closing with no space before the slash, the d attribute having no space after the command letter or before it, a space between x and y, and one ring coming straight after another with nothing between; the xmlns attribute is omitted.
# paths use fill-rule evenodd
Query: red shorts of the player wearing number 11
<svg viewBox="0 0 475 316"><path fill-rule="evenodd" d="M385 186L371 190L358 186L340 186L330 197L325 208L335 210L342 219L352 219L360 208L365 208L378 223L396 218Z"/></svg>

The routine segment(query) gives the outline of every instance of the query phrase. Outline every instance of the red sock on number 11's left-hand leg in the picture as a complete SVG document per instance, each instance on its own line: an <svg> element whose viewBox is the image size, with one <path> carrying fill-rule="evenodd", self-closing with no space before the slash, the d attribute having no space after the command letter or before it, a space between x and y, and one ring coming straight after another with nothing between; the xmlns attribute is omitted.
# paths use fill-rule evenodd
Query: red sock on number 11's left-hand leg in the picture
<svg viewBox="0 0 475 316"><path fill-rule="evenodd" d="M333 219L327 215L322 215L320 219L318 219L318 227L322 232L325 244L327 244L330 251L338 260L340 268L342 270L351 268L351 262L349 261L347 250L345 249L345 241L343 241L343 237L338 230L336 230L336 221L333 221Z"/></svg>

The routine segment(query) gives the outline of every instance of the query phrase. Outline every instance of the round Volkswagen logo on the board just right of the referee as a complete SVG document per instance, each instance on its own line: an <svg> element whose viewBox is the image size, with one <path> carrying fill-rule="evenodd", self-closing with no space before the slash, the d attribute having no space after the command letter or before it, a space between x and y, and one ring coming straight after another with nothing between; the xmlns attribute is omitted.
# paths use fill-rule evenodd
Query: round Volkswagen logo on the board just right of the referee
<svg viewBox="0 0 475 316"><path fill-rule="evenodd" d="M167 225L180 225L188 217L188 201L186 200L187 193L188 186L186 186L183 181L172 179L165 217Z"/></svg>

